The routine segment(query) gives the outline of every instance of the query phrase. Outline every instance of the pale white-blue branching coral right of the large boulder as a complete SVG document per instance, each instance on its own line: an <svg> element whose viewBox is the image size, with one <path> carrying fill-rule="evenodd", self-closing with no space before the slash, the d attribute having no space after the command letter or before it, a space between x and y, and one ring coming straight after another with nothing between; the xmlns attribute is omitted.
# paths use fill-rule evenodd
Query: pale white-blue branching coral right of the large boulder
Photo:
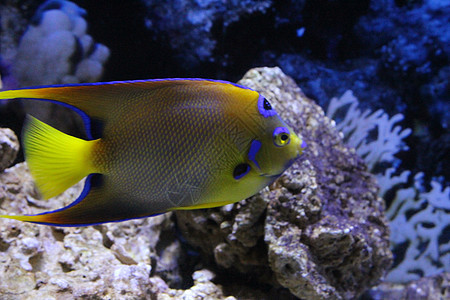
<svg viewBox="0 0 450 300"><path fill-rule="evenodd" d="M395 126L403 119L392 118L383 111L362 112L351 91L333 98L327 116L335 119L349 146L365 159L369 170L375 172L379 163L390 167L375 173L380 185L380 196L394 195L386 215L390 220L391 245L397 255L395 265L386 279L407 282L422 276L450 272L450 187L443 188L431 181L431 190L425 191L423 174L414 176L413 185L406 186L410 171L396 175L395 154L407 150L403 139L410 129ZM406 186L406 187L405 187Z"/></svg>

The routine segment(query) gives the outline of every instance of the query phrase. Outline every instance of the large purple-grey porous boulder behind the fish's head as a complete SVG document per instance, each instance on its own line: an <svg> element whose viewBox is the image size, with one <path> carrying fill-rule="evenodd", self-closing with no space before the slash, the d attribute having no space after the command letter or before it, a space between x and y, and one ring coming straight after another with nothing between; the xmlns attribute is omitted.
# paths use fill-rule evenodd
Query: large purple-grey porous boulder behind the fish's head
<svg viewBox="0 0 450 300"><path fill-rule="evenodd" d="M222 208L176 213L186 239L228 272L304 299L353 299L392 261L378 187L334 122L279 68L239 82L261 92L307 143L274 184ZM276 278L274 280L273 278Z"/></svg>

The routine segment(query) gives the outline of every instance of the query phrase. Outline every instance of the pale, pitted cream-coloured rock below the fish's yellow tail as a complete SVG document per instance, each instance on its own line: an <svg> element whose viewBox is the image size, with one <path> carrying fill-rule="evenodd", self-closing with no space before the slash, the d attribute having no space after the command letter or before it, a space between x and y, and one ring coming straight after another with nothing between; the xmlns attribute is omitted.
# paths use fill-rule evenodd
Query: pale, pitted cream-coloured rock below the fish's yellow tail
<svg viewBox="0 0 450 300"><path fill-rule="evenodd" d="M39 200L26 164L18 164L0 174L0 214L62 207L78 196L82 186L81 182L58 197ZM148 298L151 275L158 275L155 269L179 277L176 268L159 266L156 251L160 234L173 230L170 216L83 228L1 219L0 298Z"/></svg>

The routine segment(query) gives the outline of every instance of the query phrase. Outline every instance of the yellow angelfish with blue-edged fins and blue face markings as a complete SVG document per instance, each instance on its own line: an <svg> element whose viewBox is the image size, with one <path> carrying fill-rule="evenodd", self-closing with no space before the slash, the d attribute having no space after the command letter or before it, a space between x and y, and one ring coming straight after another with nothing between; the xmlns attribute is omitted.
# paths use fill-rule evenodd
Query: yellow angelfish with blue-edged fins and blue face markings
<svg viewBox="0 0 450 300"><path fill-rule="evenodd" d="M25 160L44 199L85 178L66 207L1 215L88 226L223 206L277 179L304 141L260 93L226 81L170 78L56 85L0 92L50 101L81 115L81 139L28 115Z"/></svg>

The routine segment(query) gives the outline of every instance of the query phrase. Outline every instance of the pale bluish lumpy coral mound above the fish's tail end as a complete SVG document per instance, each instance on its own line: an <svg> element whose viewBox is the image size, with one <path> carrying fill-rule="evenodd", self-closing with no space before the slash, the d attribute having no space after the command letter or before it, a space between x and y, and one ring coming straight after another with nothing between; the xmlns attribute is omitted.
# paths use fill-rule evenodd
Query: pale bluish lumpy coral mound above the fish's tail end
<svg viewBox="0 0 450 300"><path fill-rule="evenodd" d="M21 86L98 80L109 50L86 33L85 11L64 0L49 0L22 36L13 73Z"/></svg>

